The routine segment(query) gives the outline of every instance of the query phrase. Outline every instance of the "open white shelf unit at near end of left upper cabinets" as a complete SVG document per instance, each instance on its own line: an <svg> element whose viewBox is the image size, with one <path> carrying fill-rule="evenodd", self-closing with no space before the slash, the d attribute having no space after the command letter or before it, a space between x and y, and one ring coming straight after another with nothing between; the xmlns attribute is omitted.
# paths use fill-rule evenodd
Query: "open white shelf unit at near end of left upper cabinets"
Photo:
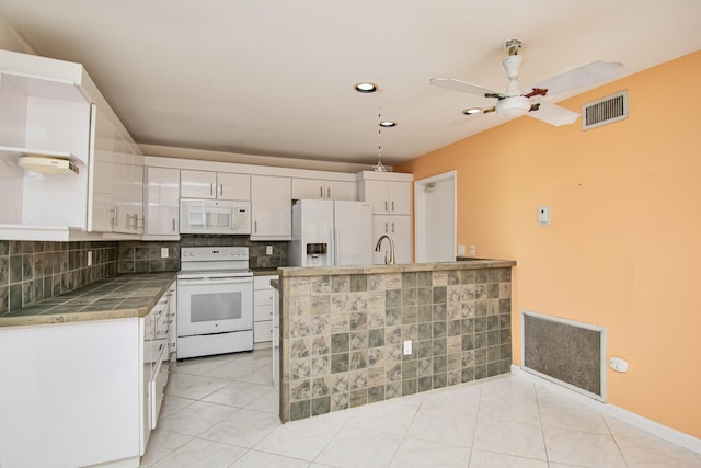
<svg viewBox="0 0 701 468"><path fill-rule="evenodd" d="M78 64L0 50L0 225L85 229L92 103L80 90L84 78ZM23 170L25 156L68 160L78 174Z"/></svg>

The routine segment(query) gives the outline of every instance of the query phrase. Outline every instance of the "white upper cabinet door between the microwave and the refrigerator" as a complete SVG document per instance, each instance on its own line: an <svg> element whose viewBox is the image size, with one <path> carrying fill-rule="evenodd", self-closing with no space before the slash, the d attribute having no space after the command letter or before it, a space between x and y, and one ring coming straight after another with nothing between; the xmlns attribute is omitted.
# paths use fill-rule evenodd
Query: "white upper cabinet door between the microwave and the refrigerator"
<svg viewBox="0 0 701 468"><path fill-rule="evenodd" d="M251 240L290 240L291 198L290 178L251 176Z"/></svg>

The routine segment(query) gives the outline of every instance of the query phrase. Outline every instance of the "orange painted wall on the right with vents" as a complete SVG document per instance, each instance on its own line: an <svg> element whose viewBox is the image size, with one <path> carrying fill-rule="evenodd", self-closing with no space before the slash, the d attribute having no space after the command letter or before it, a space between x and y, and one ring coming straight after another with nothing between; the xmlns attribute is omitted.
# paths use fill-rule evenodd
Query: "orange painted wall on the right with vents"
<svg viewBox="0 0 701 468"><path fill-rule="evenodd" d="M610 403L701 437L701 52L563 103L628 89L629 118L583 132L520 117L407 163L457 171L458 244L513 259L520 310L607 329ZM466 122L466 127L469 122ZM552 226L537 209L550 205Z"/></svg>

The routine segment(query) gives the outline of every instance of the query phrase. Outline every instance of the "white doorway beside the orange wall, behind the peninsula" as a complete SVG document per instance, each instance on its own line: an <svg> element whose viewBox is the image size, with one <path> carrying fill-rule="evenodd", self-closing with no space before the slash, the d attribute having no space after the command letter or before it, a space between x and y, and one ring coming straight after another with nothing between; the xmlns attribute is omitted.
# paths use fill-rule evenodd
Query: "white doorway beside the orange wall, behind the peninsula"
<svg viewBox="0 0 701 468"><path fill-rule="evenodd" d="M414 182L415 262L456 260L456 171Z"/></svg>

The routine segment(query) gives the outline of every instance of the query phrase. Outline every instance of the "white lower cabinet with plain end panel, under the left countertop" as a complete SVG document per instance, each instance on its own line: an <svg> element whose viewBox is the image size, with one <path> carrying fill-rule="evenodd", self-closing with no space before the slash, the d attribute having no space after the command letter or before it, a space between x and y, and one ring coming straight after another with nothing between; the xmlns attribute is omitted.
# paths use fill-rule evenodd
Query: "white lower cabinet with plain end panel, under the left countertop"
<svg viewBox="0 0 701 468"><path fill-rule="evenodd" d="M141 318L1 327L0 466L138 467L168 381L171 297Z"/></svg>

